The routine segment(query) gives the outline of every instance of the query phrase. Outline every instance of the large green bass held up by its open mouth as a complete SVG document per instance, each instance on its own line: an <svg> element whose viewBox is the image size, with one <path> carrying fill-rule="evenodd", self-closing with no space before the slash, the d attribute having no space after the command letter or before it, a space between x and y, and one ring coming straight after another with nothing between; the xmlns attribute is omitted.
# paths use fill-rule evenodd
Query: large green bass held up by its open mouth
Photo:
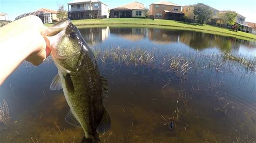
<svg viewBox="0 0 256 143"><path fill-rule="evenodd" d="M70 19L61 20L49 29L51 57L58 69L50 89L63 89L70 107L65 120L83 128L82 142L100 142L99 133L111 127L109 112L103 105L108 81L100 75L91 48Z"/></svg>

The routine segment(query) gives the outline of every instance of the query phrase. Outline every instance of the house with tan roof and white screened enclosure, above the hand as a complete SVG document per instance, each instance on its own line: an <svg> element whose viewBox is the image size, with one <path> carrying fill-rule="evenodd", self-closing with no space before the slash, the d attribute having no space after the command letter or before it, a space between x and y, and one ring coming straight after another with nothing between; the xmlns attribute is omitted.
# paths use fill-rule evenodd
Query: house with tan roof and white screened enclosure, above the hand
<svg viewBox="0 0 256 143"><path fill-rule="evenodd" d="M46 24L46 23L52 23L53 17L55 17L55 16L53 16L53 14L57 15L57 11L50 10L50 9L39 9L37 11L24 13L24 14L16 17L15 20L21 19L26 16L35 15L35 16L39 17L44 24Z"/></svg>

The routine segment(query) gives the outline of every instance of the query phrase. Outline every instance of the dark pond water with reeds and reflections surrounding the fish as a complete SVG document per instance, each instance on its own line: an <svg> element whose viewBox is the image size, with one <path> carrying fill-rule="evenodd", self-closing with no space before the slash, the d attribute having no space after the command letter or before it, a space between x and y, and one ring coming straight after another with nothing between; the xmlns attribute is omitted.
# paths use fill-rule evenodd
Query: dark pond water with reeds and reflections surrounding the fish
<svg viewBox="0 0 256 143"><path fill-rule="evenodd" d="M112 126L102 142L255 142L255 42L160 28L79 30L109 80ZM50 58L23 62L0 87L10 117L0 142L82 139L65 122L63 91L49 88L56 74Z"/></svg>

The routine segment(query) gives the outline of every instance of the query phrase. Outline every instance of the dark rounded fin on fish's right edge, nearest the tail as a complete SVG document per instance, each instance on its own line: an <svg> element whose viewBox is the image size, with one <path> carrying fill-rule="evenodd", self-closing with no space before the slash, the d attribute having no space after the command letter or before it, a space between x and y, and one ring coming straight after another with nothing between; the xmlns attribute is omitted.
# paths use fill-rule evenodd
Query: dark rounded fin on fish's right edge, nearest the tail
<svg viewBox="0 0 256 143"><path fill-rule="evenodd" d="M102 120L100 121L99 125L97 126L97 131L99 133L104 133L109 130L111 127L111 120L109 116L109 112L107 112L106 108L102 116Z"/></svg>

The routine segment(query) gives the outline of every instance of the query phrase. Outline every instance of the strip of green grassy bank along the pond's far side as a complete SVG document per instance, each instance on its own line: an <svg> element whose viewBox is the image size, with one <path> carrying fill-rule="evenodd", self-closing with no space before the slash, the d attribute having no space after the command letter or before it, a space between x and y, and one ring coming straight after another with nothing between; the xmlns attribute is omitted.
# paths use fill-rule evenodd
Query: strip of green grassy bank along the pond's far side
<svg viewBox="0 0 256 143"><path fill-rule="evenodd" d="M220 34L225 36L231 36L244 40L256 40L256 35L245 33L245 32L234 32L226 28L215 27L211 25L197 25L188 24L183 22L175 22L172 20L160 20L160 19L137 19L137 18L108 18L108 19L83 19L83 20L72 20L72 23L76 26L95 26L95 25L148 25L148 26L161 26L161 27L172 27L179 30L193 30L206 33Z"/></svg>

